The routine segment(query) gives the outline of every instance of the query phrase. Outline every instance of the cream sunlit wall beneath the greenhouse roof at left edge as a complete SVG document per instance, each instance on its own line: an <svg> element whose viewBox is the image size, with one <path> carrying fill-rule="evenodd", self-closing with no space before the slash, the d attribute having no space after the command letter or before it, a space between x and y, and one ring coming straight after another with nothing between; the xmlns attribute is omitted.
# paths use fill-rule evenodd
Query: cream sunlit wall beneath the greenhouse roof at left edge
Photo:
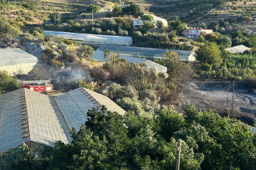
<svg viewBox="0 0 256 170"><path fill-rule="evenodd" d="M28 72L32 71L35 65L37 65L37 62L16 65L3 65L0 66L0 71L8 72L9 76L16 76L18 74L28 74Z"/></svg>

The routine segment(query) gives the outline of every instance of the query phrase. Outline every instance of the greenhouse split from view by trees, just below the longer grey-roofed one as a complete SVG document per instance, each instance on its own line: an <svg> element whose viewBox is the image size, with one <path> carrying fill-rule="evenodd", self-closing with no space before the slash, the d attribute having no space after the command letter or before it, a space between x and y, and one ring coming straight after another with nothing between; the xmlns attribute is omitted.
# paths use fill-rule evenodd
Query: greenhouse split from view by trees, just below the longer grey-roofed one
<svg viewBox="0 0 256 170"><path fill-rule="evenodd" d="M147 59L140 59L138 57L131 57L129 55L120 54L121 59L126 59L129 63L133 62L135 64L142 64L145 63L147 65L148 70L154 69L155 72L167 72L167 67L164 67L163 65L157 64L151 60ZM104 59L104 51L101 50L95 50L94 56L92 59L95 60L101 60L105 61Z"/></svg>

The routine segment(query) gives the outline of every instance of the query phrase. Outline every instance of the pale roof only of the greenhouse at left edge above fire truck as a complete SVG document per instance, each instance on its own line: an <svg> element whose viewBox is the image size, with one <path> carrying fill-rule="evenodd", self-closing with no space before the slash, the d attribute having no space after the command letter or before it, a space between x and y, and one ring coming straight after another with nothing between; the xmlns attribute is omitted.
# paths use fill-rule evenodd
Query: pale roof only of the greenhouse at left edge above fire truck
<svg viewBox="0 0 256 170"><path fill-rule="evenodd" d="M38 62L37 57L20 48L0 48L0 66Z"/></svg>

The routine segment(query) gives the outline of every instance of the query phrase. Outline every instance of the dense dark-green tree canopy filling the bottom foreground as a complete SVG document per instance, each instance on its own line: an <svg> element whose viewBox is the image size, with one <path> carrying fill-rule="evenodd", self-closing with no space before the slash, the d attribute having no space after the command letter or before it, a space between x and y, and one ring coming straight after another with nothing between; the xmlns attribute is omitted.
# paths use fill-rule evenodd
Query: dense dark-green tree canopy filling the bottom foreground
<svg viewBox="0 0 256 170"><path fill-rule="evenodd" d="M88 122L39 158L24 145L13 169L175 169L178 139L181 169L255 169L255 135L247 125L187 105L184 115L166 108L154 120L134 113L89 110Z"/></svg>

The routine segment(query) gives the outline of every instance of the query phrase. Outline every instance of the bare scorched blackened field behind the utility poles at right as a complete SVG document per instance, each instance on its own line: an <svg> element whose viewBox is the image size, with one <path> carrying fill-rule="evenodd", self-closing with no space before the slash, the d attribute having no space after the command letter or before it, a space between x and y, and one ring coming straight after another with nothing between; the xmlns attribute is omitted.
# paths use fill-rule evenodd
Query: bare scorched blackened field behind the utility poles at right
<svg viewBox="0 0 256 170"><path fill-rule="evenodd" d="M195 103L200 110L213 110L221 113L229 108L231 111L233 100L233 86L223 81L192 81L183 88L183 99L188 103ZM252 125L256 117L256 93L243 84L234 86L234 104L231 116L240 119L244 123ZM228 98L228 107L227 107Z"/></svg>

